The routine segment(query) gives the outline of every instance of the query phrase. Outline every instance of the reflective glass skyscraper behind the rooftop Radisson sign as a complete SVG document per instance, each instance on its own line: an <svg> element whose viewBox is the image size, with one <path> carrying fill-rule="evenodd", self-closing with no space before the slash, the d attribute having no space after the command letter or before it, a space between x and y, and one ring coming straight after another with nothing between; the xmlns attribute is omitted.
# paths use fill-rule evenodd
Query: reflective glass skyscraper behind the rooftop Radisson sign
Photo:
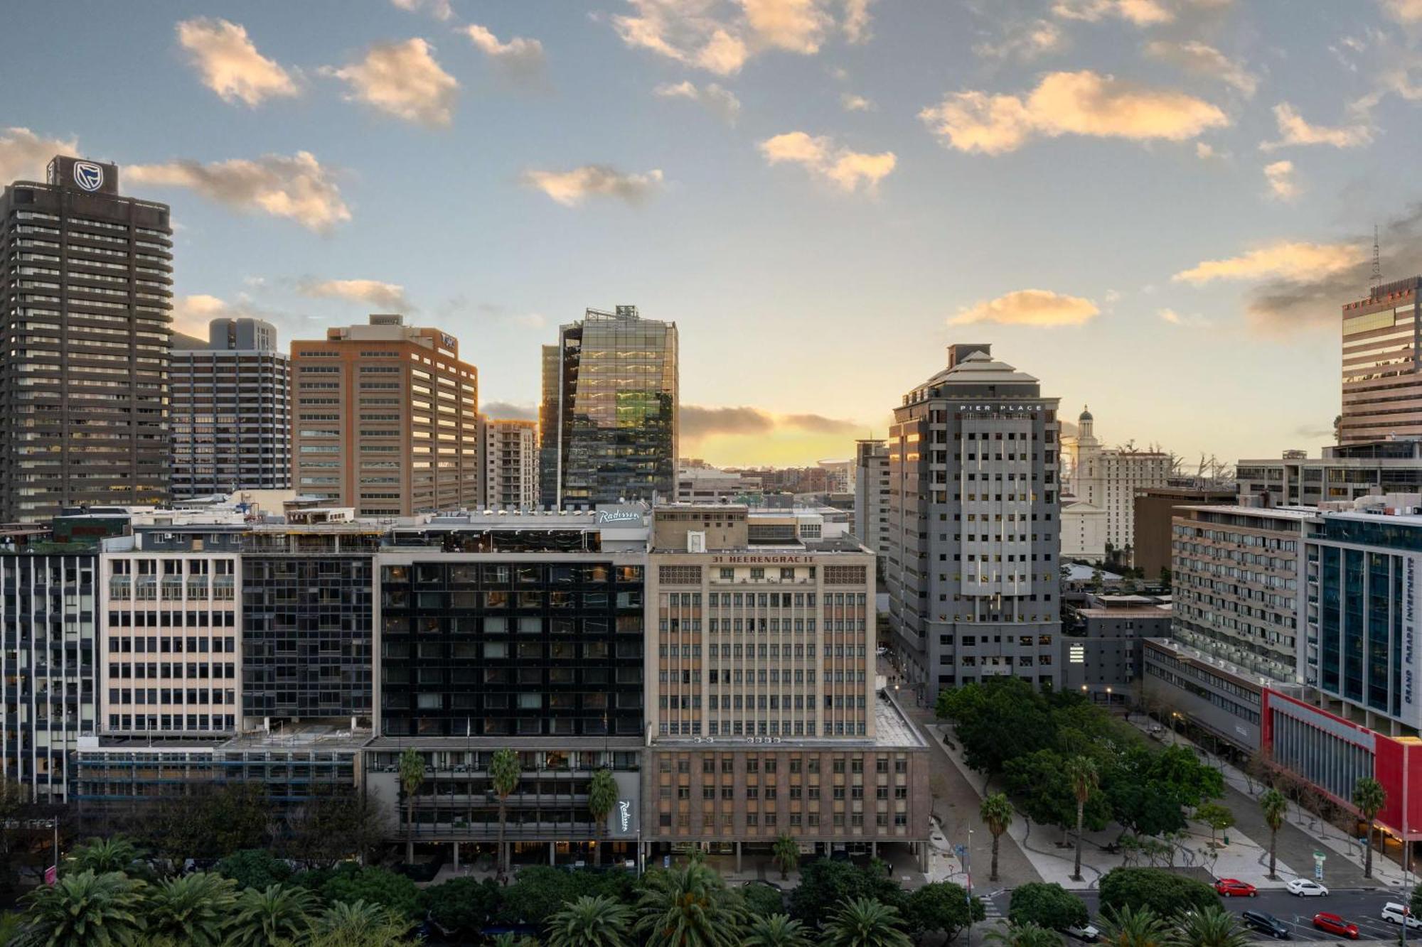
<svg viewBox="0 0 1422 947"><path fill-rule="evenodd" d="M675 496L677 324L641 319L636 306L590 309L550 348L540 414L545 502L592 508Z"/></svg>

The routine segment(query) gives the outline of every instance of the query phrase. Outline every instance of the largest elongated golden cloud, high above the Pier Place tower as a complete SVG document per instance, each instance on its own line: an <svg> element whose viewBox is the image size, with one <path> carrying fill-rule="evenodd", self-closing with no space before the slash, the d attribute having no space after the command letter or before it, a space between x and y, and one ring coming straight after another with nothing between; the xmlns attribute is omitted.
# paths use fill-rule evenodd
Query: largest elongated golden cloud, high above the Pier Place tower
<svg viewBox="0 0 1422 947"><path fill-rule="evenodd" d="M919 118L948 148L1000 155L1037 135L1185 141L1229 125L1204 100L1092 71L1048 73L1025 98L953 92Z"/></svg>

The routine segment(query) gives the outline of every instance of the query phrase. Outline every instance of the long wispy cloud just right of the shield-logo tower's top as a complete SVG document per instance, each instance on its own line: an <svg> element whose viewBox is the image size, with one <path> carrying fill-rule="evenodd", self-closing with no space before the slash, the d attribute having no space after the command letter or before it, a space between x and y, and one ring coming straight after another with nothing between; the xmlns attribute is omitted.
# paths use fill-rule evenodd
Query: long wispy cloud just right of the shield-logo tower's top
<svg viewBox="0 0 1422 947"><path fill-rule="evenodd" d="M317 233L330 233L351 219L331 169L309 151L206 165L191 159L129 165L124 173L132 183L191 188L229 208L287 218Z"/></svg>

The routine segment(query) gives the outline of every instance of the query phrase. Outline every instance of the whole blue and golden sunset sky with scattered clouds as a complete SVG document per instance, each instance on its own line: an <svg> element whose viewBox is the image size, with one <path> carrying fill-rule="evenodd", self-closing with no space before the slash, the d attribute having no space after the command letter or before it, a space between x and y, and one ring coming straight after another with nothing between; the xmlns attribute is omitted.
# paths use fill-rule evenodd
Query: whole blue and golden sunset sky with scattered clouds
<svg viewBox="0 0 1422 947"><path fill-rule="evenodd" d="M528 415L634 304L681 452L849 456L953 341L1106 444L1314 452L1340 306L1422 272L1422 0L10 0L0 182L119 165L175 327L370 311ZM1409 158L1408 155L1413 155Z"/></svg>

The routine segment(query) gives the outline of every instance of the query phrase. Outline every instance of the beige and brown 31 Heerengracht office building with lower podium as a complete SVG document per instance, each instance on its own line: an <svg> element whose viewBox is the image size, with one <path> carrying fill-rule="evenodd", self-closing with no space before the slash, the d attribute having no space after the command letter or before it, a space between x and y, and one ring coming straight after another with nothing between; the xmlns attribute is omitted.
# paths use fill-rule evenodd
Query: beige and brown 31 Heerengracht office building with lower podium
<svg viewBox="0 0 1422 947"><path fill-rule="evenodd" d="M782 835L926 857L926 747L875 692L873 555L757 523L774 518L654 510L644 833L738 857Z"/></svg>

